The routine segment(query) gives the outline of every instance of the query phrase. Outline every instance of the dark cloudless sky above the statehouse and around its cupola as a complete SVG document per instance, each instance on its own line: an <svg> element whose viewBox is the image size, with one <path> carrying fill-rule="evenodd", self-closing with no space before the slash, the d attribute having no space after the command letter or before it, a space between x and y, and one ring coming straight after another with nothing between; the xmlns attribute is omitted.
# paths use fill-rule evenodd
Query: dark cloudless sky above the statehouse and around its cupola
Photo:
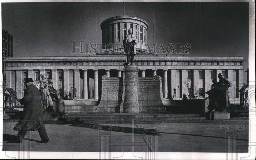
<svg viewBox="0 0 256 160"><path fill-rule="evenodd" d="M191 43L187 56L243 56L248 68L248 2L2 3L2 26L14 56L80 56L71 41L102 42L103 20L124 15L148 22L148 44ZM179 56L179 54L172 54Z"/></svg>

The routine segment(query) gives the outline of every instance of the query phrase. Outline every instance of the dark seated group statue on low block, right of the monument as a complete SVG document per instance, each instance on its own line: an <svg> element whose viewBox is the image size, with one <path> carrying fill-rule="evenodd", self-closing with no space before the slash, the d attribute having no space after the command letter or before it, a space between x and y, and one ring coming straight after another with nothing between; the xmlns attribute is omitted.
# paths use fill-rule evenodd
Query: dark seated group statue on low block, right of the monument
<svg viewBox="0 0 256 160"><path fill-rule="evenodd" d="M228 88L232 86L232 83L223 76L222 73L218 74L219 82L216 79L212 79L211 89L206 92L209 95L210 103L208 106L209 111L224 111L226 112L229 107L229 93Z"/></svg>

